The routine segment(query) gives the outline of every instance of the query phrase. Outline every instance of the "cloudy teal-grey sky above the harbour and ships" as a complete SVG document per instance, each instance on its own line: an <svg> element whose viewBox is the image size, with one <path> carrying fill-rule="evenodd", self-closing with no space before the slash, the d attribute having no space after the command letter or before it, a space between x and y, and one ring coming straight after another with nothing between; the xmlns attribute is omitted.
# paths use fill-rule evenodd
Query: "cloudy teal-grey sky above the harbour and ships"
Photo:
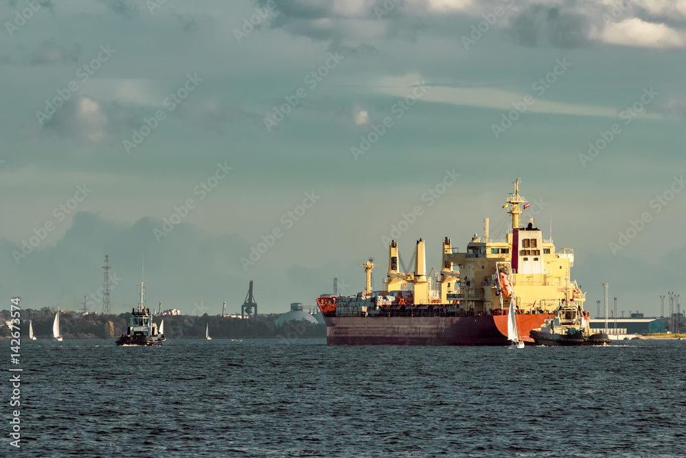
<svg viewBox="0 0 686 458"><path fill-rule="evenodd" d="M113 312L143 264L150 308L239 312L250 279L259 312L307 308L369 257L381 288L388 238L436 268L484 218L504 238L520 176L591 312L603 283L626 316L680 293L684 0L10 0L0 22L5 301L99 312L108 255Z"/></svg>

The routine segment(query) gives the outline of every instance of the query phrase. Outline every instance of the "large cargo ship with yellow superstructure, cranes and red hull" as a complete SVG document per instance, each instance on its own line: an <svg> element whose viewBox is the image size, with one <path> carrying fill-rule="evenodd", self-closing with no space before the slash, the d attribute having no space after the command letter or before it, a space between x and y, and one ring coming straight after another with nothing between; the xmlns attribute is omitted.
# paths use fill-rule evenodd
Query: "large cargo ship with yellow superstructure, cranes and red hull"
<svg viewBox="0 0 686 458"><path fill-rule="evenodd" d="M531 330L553 319L563 299L571 297L582 308L585 295L570 279L573 250L556 250L533 219L520 227L529 204L519 195L520 180L512 183L514 192L502 206L510 223L504 240L489 238L488 218L484 236L475 234L466 251L453 248L446 237L440 271L433 275L427 275L423 240L416 241L414 271L407 273L400 270L398 242L391 240L383 289L372 290L377 264L369 260L360 264L366 272L364 291L318 297L327 343L508 345L508 309L513 302L521 339L532 345Z"/></svg>

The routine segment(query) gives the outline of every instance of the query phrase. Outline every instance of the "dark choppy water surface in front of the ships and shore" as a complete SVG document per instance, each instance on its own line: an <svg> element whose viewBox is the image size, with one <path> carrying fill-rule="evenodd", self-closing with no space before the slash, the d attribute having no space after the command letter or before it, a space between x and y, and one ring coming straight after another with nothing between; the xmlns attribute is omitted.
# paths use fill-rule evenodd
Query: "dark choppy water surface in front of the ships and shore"
<svg viewBox="0 0 686 458"><path fill-rule="evenodd" d="M21 350L23 446L4 439L2 456L686 455L686 341L22 340Z"/></svg>

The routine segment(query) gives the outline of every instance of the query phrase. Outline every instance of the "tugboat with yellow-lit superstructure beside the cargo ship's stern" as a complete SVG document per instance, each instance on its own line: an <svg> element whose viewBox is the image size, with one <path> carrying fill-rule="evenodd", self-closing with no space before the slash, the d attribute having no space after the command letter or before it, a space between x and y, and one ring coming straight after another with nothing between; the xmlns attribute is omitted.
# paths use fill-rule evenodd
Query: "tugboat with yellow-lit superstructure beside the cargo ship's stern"
<svg viewBox="0 0 686 458"><path fill-rule="evenodd" d="M591 334L589 312L576 301L567 299L560 301L554 318L546 319L541 328L531 330L529 335L536 345L606 345L611 342L604 332Z"/></svg>

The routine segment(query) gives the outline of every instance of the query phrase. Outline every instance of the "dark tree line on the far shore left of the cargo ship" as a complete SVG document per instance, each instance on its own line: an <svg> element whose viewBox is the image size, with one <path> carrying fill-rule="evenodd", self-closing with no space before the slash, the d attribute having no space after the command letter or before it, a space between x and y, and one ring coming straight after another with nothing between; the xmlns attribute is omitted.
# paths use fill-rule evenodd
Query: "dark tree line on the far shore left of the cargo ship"
<svg viewBox="0 0 686 458"><path fill-rule="evenodd" d="M10 321L10 311L0 312L3 323L0 338L10 337L5 325ZM308 339L326 337L326 326L309 321L290 321L277 326L275 321L281 314L258 314L248 319L222 317L221 315L159 315L153 321L159 326L165 320L167 339L204 338L205 327L209 325L210 336L218 339ZM60 332L64 339L114 339L126 332L129 312L121 314L82 314L81 312L60 312ZM52 310L21 310L21 336L29 335L29 320L32 321L34 336L38 339L52 338L55 312Z"/></svg>

